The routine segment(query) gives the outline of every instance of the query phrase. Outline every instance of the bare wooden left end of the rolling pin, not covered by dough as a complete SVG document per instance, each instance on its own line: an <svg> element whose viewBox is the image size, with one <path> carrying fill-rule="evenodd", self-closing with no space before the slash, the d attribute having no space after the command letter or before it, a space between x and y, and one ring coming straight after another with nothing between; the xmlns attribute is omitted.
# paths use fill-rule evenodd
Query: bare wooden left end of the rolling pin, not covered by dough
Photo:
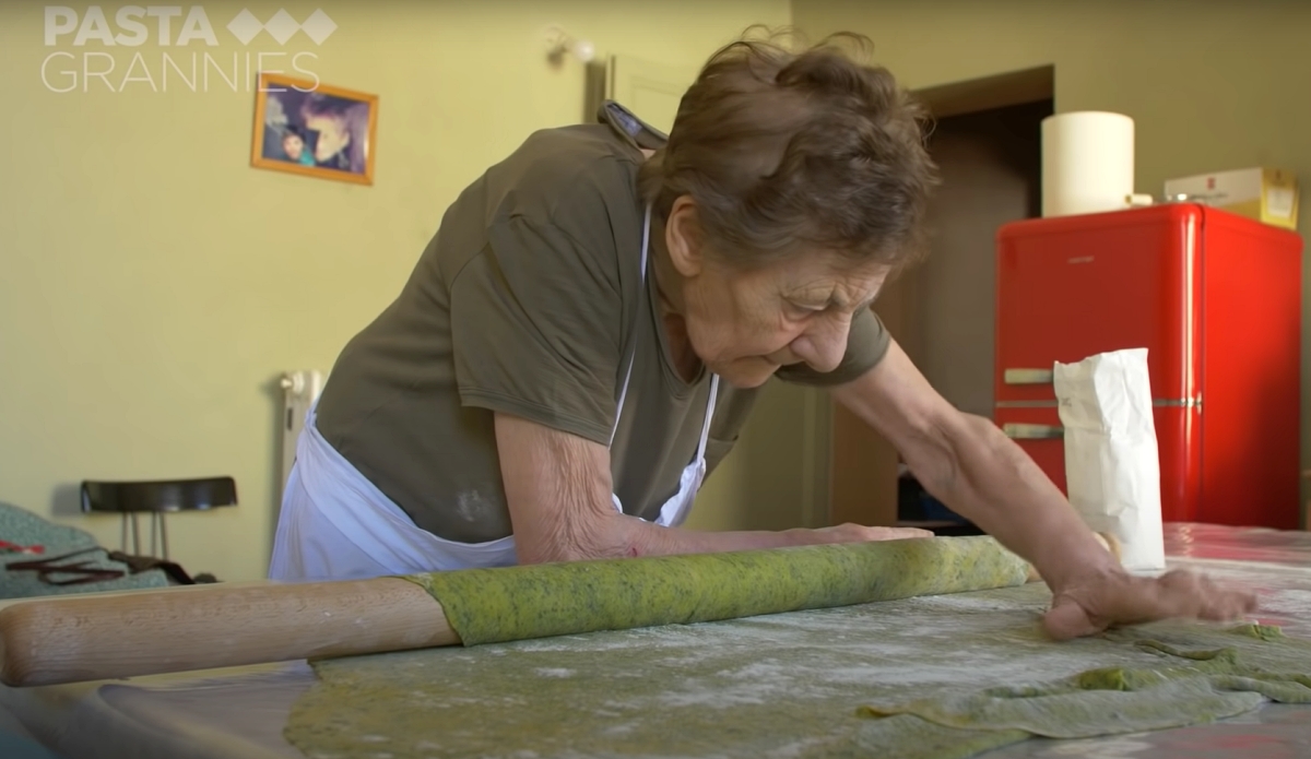
<svg viewBox="0 0 1311 759"><path fill-rule="evenodd" d="M459 642L440 604L397 578L49 598L0 610L0 682L49 686Z"/></svg>

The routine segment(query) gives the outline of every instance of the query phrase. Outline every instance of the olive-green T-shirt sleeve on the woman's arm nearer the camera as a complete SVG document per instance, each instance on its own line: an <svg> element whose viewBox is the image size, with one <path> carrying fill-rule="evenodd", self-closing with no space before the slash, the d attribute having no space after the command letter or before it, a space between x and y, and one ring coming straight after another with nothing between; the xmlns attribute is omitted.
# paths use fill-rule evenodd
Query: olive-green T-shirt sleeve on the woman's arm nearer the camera
<svg viewBox="0 0 1311 759"><path fill-rule="evenodd" d="M616 261L547 220L496 222L451 284L460 402L607 443L623 343Z"/></svg>

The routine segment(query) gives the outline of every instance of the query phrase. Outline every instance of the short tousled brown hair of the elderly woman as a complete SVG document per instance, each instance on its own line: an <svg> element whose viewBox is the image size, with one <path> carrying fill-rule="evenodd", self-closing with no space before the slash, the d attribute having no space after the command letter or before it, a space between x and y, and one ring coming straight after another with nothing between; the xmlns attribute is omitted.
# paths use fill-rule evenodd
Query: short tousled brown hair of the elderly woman
<svg viewBox="0 0 1311 759"><path fill-rule="evenodd" d="M802 249L893 267L918 258L937 184L926 110L863 63L865 37L794 52L787 33L754 30L683 96L667 146L638 174L642 198L667 219L690 195L712 250L739 265Z"/></svg>

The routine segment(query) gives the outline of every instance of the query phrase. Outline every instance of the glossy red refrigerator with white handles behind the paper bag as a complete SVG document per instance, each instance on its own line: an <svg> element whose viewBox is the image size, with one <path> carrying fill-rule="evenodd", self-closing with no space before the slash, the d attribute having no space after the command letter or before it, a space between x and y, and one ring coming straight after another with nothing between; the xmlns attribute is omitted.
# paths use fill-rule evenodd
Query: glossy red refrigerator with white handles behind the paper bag
<svg viewBox="0 0 1311 759"><path fill-rule="evenodd" d="M1165 522L1299 524L1302 239L1168 203L998 232L995 421L1065 492L1053 362L1146 347Z"/></svg>

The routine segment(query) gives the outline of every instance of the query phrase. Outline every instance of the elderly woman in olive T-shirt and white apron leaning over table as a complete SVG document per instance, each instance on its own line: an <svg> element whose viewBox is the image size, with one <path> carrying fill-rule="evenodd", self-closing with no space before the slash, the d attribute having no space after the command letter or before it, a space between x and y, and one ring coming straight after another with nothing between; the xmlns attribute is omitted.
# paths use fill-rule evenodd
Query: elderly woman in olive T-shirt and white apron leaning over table
<svg viewBox="0 0 1311 759"><path fill-rule="evenodd" d="M666 139L620 105L531 135L450 206L299 440L275 579L918 537L679 526L770 378L827 388L931 493L1034 564L1047 629L1230 617L1248 595L1130 577L871 311L922 249L922 111L831 45L741 41Z"/></svg>

